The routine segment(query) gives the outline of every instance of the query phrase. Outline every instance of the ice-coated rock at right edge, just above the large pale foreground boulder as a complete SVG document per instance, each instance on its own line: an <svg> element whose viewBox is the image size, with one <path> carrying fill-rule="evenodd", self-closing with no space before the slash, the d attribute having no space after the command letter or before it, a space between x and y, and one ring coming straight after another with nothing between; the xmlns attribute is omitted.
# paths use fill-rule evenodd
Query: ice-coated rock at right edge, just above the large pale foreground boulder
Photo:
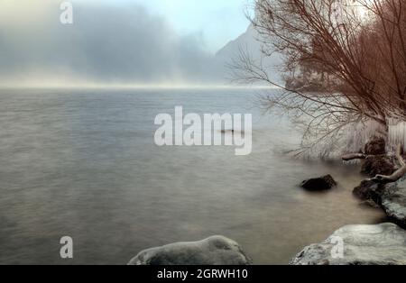
<svg viewBox="0 0 406 283"><path fill-rule="evenodd" d="M381 196L380 204L386 215L406 227L406 181L387 187Z"/></svg>

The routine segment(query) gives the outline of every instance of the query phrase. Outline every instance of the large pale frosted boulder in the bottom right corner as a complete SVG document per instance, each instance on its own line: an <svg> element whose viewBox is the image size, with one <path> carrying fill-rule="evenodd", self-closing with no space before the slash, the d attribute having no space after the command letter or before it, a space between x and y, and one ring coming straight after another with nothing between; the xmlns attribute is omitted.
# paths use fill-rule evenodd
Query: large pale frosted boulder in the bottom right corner
<svg viewBox="0 0 406 283"><path fill-rule="evenodd" d="M345 226L291 260L291 265L404 264L406 231L395 224Z"/></svg>

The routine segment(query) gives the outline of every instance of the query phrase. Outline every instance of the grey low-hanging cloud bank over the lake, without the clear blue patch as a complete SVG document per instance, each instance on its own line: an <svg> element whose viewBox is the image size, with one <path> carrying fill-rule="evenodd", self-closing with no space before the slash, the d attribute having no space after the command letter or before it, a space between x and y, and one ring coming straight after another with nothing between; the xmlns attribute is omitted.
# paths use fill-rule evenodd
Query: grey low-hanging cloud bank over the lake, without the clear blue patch
<svg viewBox="0 0 406 283"><path fill-rule="evenodd" d="M60 23L55 0L0 0L0 81L216 82L222 66L199 33L180 36L140 5L71 1ZM46 83L46 82L44 82Z"/></svg>

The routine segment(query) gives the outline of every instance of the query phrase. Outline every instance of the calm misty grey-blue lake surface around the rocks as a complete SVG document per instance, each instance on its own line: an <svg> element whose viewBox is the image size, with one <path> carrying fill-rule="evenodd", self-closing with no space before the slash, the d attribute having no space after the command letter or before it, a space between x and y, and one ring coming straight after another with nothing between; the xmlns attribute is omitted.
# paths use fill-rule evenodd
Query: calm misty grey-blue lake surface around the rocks
<svg viewBox="0 0 406 283"><path fill-rule="evenodd" d="M352 189L356 166L296 160L300 134L252 90L0 91L0 264L126 264L139 251L221 234L255 264L286 264L346 224L383 222ZM253 114L253 153L158 147L157 114ZM331 174L325 193L298 187ZM60 259L60 238L74 259Z"/></svg>

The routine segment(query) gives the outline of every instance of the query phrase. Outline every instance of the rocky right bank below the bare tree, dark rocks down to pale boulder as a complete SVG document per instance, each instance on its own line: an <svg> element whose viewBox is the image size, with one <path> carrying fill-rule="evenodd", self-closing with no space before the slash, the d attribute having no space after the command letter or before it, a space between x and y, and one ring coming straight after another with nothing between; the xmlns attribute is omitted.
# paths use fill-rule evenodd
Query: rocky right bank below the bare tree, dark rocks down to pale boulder
<svg viewBox="0 0 406 283"><path fill-rule="evenodd" d="M400 160L396 160L386 154L383 139L373 139L365 145L364 152L343 157L355 159L364 160L361 173L371 178L355 187L354 195L381 207L392 223L342 227L325 242L304 248L291 260L291 265L406 264L406 179L392 182L392 177L404 166L401 150Z"/></svg>

